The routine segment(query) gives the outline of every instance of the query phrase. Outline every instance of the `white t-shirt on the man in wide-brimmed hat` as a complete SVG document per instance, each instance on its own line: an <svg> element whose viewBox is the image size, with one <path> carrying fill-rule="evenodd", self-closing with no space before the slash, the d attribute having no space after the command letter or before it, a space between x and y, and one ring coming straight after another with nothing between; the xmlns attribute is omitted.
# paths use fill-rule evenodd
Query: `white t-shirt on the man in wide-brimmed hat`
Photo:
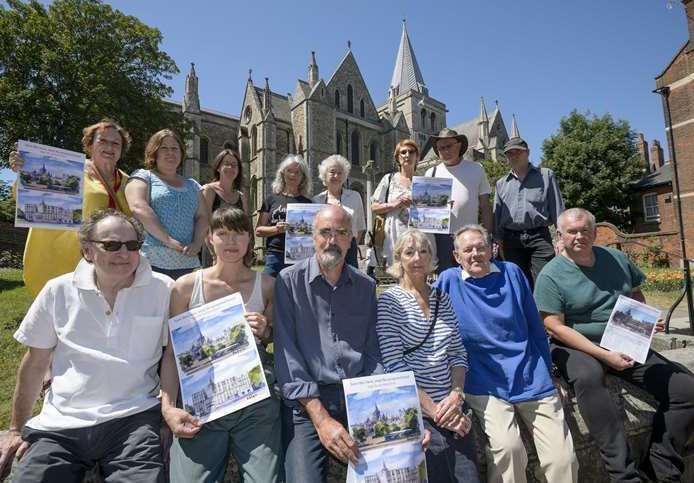
<svg viewBox="0 0 694 483"><path fill-rule="evenodd" d="M482 165L476 161L463 159L455 166L439 163L436 173L431 167L426 176L451 178L453 180L453 207L451 208L451 234L455 234L464 225L479 223L480 195L492 192Z"/></svg>

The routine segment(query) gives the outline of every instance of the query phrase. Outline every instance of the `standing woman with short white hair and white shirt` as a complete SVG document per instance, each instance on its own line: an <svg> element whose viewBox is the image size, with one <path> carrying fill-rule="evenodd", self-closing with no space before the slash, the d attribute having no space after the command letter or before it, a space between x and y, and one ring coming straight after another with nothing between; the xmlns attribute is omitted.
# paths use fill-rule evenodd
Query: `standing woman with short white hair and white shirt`
<svg viewBox="0 0 694 483"><path fill-rule="evenodd" d="M345 261L353 267L359 268L357 243L366 232L366 220L364 219L364 205L361 195L343 186L349 177L350 169L352 169L352 165L344 156L333 154L325 158L318 165L318 176L320 176L326 190L314 196L313 202L342 206L352 216L352 234L354 237Z"/></svg>

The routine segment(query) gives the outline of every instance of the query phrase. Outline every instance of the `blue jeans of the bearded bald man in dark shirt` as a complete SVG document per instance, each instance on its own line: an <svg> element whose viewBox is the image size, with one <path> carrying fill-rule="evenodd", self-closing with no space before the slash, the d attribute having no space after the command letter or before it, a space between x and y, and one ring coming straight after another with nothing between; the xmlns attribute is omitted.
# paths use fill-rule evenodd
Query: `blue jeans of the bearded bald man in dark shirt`
<svg viewBox="0 0 694 483"><path fill-rule="evenodd" d="M346 428L347 410L342 385L320 386L320 400L330 416ZM285 403L282 404L282 420L286 482L327 481L330 454L321 444L308 414L301 407L290 407Z"/></svg>

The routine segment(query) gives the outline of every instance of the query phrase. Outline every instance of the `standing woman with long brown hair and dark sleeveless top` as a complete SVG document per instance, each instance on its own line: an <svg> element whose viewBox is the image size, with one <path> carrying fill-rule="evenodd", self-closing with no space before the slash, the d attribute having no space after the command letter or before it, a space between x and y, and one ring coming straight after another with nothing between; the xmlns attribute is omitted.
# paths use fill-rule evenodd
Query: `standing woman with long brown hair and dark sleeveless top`
<svg viewBox="0 0 694 483"><path fill-rule="evenodd" d="M241 157L233 149L224 149L212 162L214 181L202 187L202 196L207 204L209 217L217 208L239 208L248 216L248 202L243 195L243 169ZM206 244L202 246L202 265L209 267L213 263Z"/></svg>

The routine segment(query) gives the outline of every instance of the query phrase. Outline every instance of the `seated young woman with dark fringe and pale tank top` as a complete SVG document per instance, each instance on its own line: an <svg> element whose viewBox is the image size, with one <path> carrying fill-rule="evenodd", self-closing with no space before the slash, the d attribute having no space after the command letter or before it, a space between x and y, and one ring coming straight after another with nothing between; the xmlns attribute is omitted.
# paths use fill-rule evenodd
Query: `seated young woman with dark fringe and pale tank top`
<svg viewBox="0 0 694 483"><path fill-rule="evenodd" d="M171 316L236 292L258 342L268 384L274 382L265 347L272 341L274 279L251 269L252 227L243 210L219 208L208 242L215 264L179 278L171 292ZM279 401L271 396L204 425L176 407L179 380L172 344L162 362L162 415L176 436L171 447L171 482L223 481L230 455L244 481L277 482L281 475Z"/></svg>

